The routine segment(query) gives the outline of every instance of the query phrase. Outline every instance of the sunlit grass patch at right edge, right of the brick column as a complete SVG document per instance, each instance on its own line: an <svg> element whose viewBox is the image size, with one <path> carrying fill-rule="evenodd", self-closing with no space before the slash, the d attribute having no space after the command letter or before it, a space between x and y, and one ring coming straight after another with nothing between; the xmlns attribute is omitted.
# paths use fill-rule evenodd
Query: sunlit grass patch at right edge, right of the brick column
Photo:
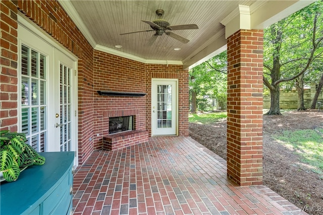
<svg viewBox="0 0 323 215"><path fill-rule="evenodd" d="M303 163L311 166L315 173L323 175L323 129L283 131L273 136L277 141L292 148Z"/></svg>

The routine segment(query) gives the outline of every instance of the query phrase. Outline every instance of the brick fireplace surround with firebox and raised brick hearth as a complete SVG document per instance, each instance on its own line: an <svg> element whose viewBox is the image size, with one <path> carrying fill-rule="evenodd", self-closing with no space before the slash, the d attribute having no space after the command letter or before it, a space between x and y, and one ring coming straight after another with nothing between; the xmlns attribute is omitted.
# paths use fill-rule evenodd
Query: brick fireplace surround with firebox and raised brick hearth
<svg viewBox="0 0 323 215"><path fill-rule="evenodd" d="M116 150L148 140L148 131L137 129L140 109L104 111L109 134L103 136L103 149Z"/></svg>

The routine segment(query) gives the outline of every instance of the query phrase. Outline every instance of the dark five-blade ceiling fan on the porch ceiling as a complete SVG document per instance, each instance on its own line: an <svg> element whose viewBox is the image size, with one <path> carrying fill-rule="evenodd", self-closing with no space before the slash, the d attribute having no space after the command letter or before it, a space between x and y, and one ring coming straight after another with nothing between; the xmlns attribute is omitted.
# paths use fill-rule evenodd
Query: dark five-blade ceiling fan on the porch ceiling
<svg viewBox="0 0 323 215"><path fill-rule="evenodd" d="M141 20L142 22L150 25L152 30L133 31L133 32L127 32L127 33L121 33L120 35L133 34L133 33L138 33L138 32L155 31L156 33L154 35L152 35L152 37L148 41L147 45L149 46L149 45L152 45L156 41L157 36L161 36L164 33L170 37L173 37L174 39L181 41L182 43L188 43L189 42L188 39L186 39L178 34L175 34L171 31L186 30L186 29L198 29L196 24L170 25L169 22L167 22L164 19L161 19L161 16L164 15L164 10L158 9L158 10L156 10L156 14L157 14L158 18L152 22L146 21L146 20Z"/></svg>

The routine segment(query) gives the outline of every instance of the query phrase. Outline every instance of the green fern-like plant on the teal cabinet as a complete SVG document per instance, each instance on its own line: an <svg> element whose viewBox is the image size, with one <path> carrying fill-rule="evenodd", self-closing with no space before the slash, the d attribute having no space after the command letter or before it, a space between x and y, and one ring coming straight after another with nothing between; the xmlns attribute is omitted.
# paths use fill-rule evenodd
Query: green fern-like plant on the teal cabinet
<svg viewBox="0 0 323 215"><path fill-rule="evenodd" d="M26 144L24 133L0 131L0 149L0 172L9 182L16 181L22 169L45 163L45 158Z"/></svg>

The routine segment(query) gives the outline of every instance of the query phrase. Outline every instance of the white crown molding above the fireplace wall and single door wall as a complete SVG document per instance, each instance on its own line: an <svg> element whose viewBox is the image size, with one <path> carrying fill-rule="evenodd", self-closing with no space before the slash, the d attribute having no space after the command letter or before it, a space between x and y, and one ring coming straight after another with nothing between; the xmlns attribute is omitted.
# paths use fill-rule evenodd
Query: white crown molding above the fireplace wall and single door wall
<svg viewBox="0 0 323 215"><path fill-rule="evenodd" d="M122 51L118 51L115 49L111 49L111 48L107 48L105 46L102 45L96 45L94 47L95 50L98 51L103 51L105 53L109 53L109 54L114 54L120 57L124 57L127 59L131 59L131 60L135 60L138 62L142 62L142 63L146 63L146 64L170 64L170 65L183 65L182 61L180 60L151 60L151 59L144 59L142 57L137 57L135 55L132 54L127 54L125 52Z"/></svg>

